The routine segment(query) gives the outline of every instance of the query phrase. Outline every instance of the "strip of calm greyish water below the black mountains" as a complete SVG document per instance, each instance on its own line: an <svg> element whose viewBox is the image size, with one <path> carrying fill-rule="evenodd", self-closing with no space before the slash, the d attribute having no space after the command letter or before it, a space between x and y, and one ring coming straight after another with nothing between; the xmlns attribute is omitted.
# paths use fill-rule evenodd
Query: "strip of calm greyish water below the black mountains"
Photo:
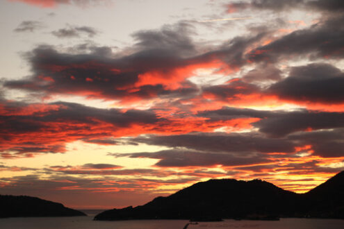
<svg viewBox="0 0 344 229"><path fill-rule="evenodd" d="M13 228L84 228L84 229L182 229L186 220L92 221L93 217L47 217L0 219L1 229ZM202 222L188 229L255 228L255 229L343 229L344 220L338 219L281 219L280 221Z"/></svg>

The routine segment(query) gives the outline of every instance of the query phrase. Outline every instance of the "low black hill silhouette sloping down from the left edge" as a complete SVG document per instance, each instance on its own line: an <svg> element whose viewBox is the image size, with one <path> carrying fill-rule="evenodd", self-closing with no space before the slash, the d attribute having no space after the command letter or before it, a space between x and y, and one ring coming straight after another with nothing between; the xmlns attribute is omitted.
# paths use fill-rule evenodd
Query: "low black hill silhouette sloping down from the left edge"
<svg viewBox="0 0 344 229"><path fill-rule="evenodd" d="M0 218L5 217L77 217L86 214L31 196L0 195Z"/></svg>

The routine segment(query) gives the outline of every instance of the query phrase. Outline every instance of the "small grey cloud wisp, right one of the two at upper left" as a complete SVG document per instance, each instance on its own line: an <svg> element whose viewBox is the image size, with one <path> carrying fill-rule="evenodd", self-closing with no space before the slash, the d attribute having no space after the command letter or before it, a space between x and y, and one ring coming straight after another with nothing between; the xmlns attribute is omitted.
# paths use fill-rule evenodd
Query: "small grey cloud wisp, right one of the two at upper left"
<svg viewBox="0 0 344 229"><path fill-rule="evenodd" d="M52 35L59 38L81 37L81 35L94 37L97 33L95 28L90 26L68 26L68 28L60 28L58 31L51 32Z"/></svg>

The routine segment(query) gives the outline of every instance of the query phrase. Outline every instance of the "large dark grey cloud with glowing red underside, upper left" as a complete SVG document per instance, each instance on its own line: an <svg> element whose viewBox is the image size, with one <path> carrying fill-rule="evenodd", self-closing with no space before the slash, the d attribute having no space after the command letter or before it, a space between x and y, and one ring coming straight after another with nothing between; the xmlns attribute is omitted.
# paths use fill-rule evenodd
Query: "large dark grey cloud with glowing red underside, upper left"
<svg viewBox="0 0 344 229"><path fill-rule="evenodd" d="M110 58L110 49L104 48L92 48L92 53L73 55L58 53L49 46L40 46L28 55L33 76L25 80L8 81L5 85L46 94L86 94L90 98L100 99L140 100L195 92L195 87L190 83L184 83L186 89L177 91L166 89L162 84L165 80L175 82L172 80L174 68L193 64L178 56L177 49L180 47L167 50L157 46L156 49L141 50L122 58ZM104 51L107 55L104 55ZM150 72L158 81L154 82L153 78L147 85L144 82L136 86L140 83L139 76Z"/></svg>

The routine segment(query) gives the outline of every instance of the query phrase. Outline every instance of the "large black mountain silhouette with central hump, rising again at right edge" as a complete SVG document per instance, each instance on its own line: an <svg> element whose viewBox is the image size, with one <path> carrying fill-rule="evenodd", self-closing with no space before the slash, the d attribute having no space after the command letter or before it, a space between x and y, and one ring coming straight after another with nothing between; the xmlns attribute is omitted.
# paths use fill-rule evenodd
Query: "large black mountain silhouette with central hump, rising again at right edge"
<svg viewBox="0 0 344 229"><path fill-rule="evenodd" d="M344 171L306 194L289 192L263 180L208 180L145 205L101 212L95 220L124 219L344 219Z"/></svg>

